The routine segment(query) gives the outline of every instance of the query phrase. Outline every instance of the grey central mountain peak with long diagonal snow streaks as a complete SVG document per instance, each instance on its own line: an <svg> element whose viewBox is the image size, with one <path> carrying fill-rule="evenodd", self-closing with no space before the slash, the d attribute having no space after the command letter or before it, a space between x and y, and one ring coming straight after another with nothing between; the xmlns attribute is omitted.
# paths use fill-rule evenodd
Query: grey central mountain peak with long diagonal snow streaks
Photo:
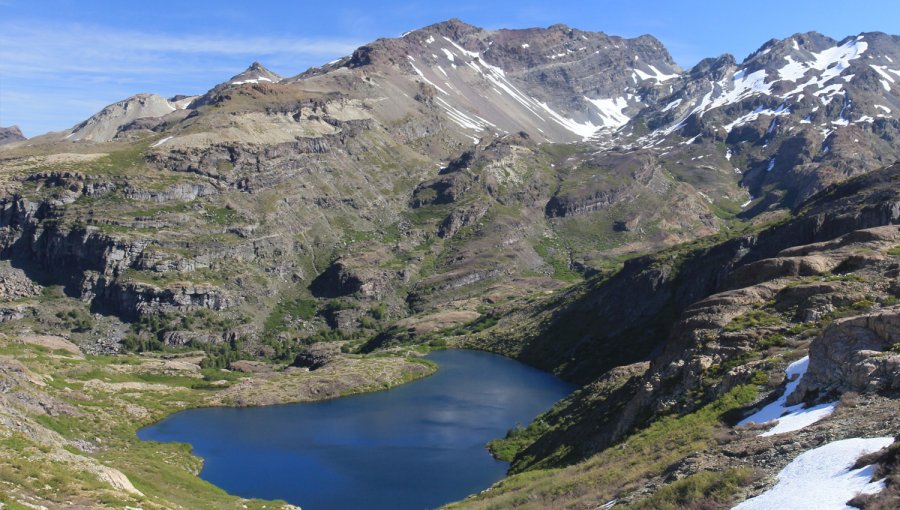
<svg viewBox="0 0 900 510"><path fill-rule="evenodd" d="M399 71L426 91L408 95L433 96L475 139L486 130L525 130L544 141L618 128L681 72L651 36L626 39L565 25L485 30L458 19L379 39L296 80L340 68L391 80Z"/></svg>

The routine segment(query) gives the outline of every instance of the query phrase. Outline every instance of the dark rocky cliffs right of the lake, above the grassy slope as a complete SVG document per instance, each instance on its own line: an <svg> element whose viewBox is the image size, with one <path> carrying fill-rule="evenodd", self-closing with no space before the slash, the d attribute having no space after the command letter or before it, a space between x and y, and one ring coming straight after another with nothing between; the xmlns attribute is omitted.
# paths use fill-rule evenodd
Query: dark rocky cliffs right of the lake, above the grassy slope
<svg viewBox="0 0 900 510"><path fill-rule="evenodd" d="M786 313L785 321L814 328L836 310L896 299L897 264L884 253L900 242L898 180L894 165L823 191L795 219L759 233L628 261L611 278L512 312L500 332L470 339L586 384L543 418L554 426L520 452L514 471L583 459L660 416L747 384L770 367L753 362L767 336L792 341L770 317ZM821 282L832 273L853 276ZM794 401L893 388L896 360L880 354L893 343L893 322L891 308L826 329L810 346L810 376ZM613 368L648 358L639 370Z"/></svg>

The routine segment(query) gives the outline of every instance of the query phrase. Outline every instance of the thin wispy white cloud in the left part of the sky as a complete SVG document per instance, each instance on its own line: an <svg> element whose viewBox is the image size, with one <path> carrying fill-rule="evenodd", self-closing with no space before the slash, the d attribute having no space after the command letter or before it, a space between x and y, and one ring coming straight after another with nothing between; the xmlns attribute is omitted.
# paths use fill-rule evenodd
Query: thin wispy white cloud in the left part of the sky
<svg viewBox="0 0 900 510"><path fill-rule="evenodd" d="M203 93L254 60L293 75L358 46L329 38L0 22L0 126L19 124L29 136L65 129L97 105L136 93Z"/></svg>

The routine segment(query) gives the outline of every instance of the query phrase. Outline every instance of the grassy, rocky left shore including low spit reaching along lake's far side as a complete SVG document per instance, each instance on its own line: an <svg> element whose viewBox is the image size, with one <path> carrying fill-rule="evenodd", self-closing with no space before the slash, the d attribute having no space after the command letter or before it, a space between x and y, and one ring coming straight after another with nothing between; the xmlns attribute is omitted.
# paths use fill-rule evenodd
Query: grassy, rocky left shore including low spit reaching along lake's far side
<svg viewBox="0 0 900 510"><path fill-rule="evenodd" d="M21 367L12 373L28 374L15 383L20 392L52 406L31 414L6 409L18 432L14 441L0 439L0 457L15 461L16 471L6 470L0 479L10 487L27 488L35 479L29 473L44 473L84 487L60 501L52 495L36 497L32 490L0 493L4 501L45 507L71 502L98 508L114 502L117 508L278 508L283 503L277 500L228 494L200 478L203 460L189 445L144 442L137 431L188 409L324 401L396 388L437 370L412 355L341 355L331 368L270 374L223 371L218 379L219 372L209 378L210 371L201 371L198 360L184 356L81 356L3 338L0 347L0 363ZM3 377L0 373L0 380ZM228 391L246 380L257 382ZM290 394L291 388L305 383L320 391ZM254 397L257 390L270 387L281 387L277 398L263 402ZM249 396L237 398L245 393ZM98 479L83 473L99 473Z"/></svg>

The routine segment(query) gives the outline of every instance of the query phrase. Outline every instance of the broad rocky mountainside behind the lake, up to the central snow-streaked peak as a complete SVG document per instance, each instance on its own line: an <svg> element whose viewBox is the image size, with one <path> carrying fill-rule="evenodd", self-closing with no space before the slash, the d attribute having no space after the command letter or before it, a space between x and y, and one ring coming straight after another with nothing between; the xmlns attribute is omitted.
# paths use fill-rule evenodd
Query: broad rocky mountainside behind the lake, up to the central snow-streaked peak
<svg viewBox="0 0 900 510"><path fill-rule="evenodd" d="M732 173L685 180L649 153L546 143L618 127L677 71L650 37L455 20L293 78L254 63L202 96L135 96L4 152L4 253L95 311L221 312L240 333L150 335L238 334L244 355L338 323L365 336L448 302L474 311L728 220L692 182L736 210ZM354 304L329 319L339 298ZM301 331L271 317L310 299L321 313Z"/></svg>

